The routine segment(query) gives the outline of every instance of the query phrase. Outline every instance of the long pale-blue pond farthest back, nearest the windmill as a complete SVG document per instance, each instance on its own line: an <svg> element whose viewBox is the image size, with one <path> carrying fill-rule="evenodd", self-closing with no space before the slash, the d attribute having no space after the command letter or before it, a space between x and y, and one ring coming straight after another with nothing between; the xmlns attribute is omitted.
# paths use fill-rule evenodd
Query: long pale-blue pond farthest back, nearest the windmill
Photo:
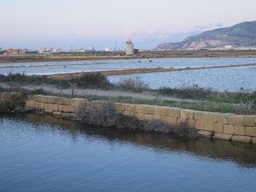
<svg viewBox="0 0 256 192"><path fill-rule="evenodd" d="M152 60L153 62L149 62ZM0 73L8 74L25 72L28 75L50 75L56 73L120 70L124 68L156 68L156 67L200 67L256 62L256 57L226 58L146 58L132 60L101 60L101 61L65 61L65 62L24 62L0 63L2 66L18 66L18 68L0 68ZM48 66L46 66L48 65ZM24 67L41 66L41 67Z"/></svg>

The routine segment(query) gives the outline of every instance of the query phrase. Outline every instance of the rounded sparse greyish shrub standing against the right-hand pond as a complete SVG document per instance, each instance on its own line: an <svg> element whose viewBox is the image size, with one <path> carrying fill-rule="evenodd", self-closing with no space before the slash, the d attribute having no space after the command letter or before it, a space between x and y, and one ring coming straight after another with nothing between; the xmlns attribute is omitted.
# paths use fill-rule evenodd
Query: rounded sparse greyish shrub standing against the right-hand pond
<svg viewBox="0 0 256 192"><path fill-rule="evenodd" d="M119 88L124 91L131 92L142 92L149 90L149 85L141 80L139 77L135 78L124 78L116 83L116 88Z"/></svg>

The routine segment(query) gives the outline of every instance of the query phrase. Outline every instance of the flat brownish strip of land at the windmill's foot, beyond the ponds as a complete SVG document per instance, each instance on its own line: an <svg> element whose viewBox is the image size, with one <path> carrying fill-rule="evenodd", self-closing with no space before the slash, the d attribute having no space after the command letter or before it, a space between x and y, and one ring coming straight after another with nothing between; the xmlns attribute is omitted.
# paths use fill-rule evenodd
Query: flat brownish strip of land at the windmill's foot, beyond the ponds
<svg viewBox="0 0 256 192"><path fill-rule="evenodd" d="M0 55L0 63L120 60L132 58L200 58L200 57L255 57L256 50L195 50L195 51L142 51L136 56L126 56L125 52L63 52L27 53L25 55Z"/></svg>

